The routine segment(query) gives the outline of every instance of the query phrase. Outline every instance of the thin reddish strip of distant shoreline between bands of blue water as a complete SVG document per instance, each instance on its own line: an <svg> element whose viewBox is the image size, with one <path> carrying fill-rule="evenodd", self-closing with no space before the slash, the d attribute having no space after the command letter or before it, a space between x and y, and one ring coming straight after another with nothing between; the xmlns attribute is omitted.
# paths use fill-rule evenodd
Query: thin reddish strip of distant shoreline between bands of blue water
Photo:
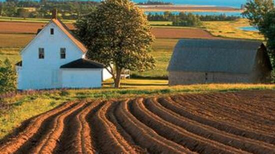
<svg viewBox="0 0 275 154"><path fill-rule="evenodd" d="M242 9L210 5L138 5L144 11L242 12Z"/></svg>

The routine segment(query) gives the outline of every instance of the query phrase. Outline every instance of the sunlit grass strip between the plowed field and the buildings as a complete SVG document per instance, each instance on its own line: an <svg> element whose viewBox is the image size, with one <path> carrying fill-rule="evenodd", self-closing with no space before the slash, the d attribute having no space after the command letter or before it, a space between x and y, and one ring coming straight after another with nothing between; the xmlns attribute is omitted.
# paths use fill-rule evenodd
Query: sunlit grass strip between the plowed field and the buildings
<svg viewBox="0 0 275 154"><path fill-rule="evenodd" d="M110 99L110 98L134 98L149 96L165 96L182 93L206 93L206 92L228 92L239 90L275 90L275 85L249 85L249 84L206 84L191 86L165 86L163 80L127 80L123 83L133 84L131 88L125 86L122 89L93 89L93 90L63 90L33 93L29 95L16 95L3 100L0 109L0 139L18 127L24 120L43 112L51 110L66 101L77 99ZM145 83L149 87L142 87ZM154 85L152 85L154 84Z"/></svg>

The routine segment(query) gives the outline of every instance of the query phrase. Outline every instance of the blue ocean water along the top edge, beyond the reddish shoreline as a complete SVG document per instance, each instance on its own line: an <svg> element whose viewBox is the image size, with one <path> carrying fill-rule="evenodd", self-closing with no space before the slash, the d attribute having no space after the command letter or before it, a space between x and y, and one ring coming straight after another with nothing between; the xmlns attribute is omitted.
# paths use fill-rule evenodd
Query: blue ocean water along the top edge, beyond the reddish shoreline
<svg viewBox="0 0 275 154"><path fill-rule="evenodd" d="M0 0L5 1L5 0ZM92 0L91 0L92 1ZM101 1L101 0L94 0ZM133 0L134 2L145 2L147 0ZM215 5L215 6L230 6L239 8L246 0L161 0L164 2L172 2L174 4L186 5Z"/></svg>

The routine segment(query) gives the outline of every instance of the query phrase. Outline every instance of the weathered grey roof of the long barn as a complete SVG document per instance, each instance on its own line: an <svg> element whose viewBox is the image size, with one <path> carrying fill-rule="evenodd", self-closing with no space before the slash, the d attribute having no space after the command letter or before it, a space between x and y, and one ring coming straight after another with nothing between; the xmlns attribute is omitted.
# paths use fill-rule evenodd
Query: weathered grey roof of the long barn
<svg viewBox="0 0 275 154"><path fill-rule="evenodd" d="M262 42L248 40L179 40L167 71L247 74L260 47L264 47Z"/></svg>

